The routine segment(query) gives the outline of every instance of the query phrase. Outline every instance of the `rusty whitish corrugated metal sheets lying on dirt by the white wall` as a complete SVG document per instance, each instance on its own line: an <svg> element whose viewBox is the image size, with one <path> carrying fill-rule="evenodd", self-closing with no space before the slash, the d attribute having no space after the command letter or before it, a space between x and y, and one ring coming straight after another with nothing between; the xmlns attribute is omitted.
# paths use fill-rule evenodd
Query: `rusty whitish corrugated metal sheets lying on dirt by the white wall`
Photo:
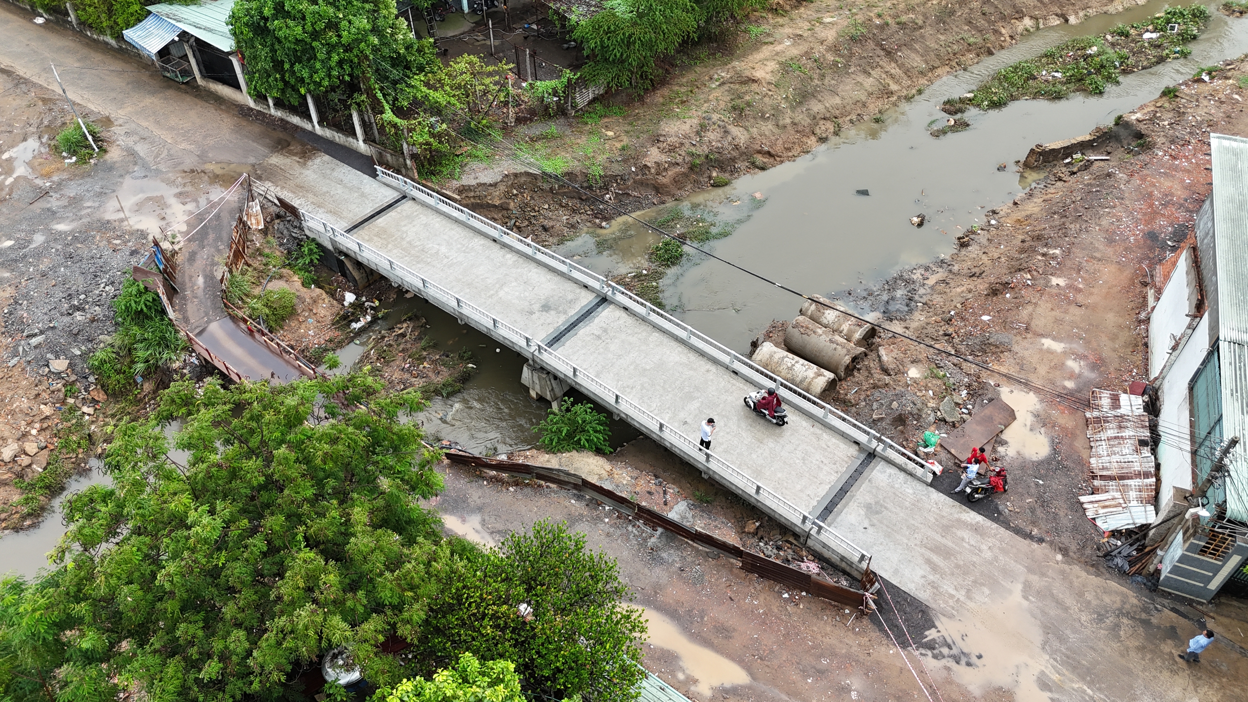
<svg viewBox="0 0 1248 702"><path fill-rule="evenodd" d="M1093 390L1087 412L1092 445L1083 512L1104 531L1153 521L1157 466L1148 433L1144 398Z"/></svg>

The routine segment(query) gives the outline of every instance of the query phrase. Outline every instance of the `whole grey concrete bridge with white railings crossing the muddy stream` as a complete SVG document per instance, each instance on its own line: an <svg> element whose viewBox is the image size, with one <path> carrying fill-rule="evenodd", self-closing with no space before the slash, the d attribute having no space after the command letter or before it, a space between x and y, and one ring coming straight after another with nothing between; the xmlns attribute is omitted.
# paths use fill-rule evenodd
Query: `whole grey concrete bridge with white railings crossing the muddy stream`
<svg viewBox="0 0 1248 702"><path fill-rule="evenodd" d="M900 446L598 274L406 177L317 161L312 190L311 164L281 154L257 169L257 186L297 206L327 249L528 357L533 392L555 401L575 387L850 572L870 555L830 517L856 482L880 465L931 480ZM741 401L768 386L790 408L782 428ZM698 430L711 416L706 451Z"/></svg>

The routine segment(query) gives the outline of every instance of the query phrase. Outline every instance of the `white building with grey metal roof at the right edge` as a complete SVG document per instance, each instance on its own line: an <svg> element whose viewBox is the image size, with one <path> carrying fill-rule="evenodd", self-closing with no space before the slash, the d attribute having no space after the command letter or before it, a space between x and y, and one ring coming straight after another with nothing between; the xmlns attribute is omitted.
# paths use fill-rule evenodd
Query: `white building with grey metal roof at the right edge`
<svg viewBox="0 0 1248 702"><path fill-rule="evenodd" d="M1208 601L1248 593L1248 139L1209 136L1213 192L1157 266L1149 315L1156 392L1159 587Z"/></svg>

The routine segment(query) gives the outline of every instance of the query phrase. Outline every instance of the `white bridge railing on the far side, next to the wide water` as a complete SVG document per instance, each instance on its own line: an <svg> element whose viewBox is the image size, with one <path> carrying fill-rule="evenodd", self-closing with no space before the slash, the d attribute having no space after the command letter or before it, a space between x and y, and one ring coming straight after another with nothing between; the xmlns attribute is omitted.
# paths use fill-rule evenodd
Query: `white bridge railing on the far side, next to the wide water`
<svg viewBox="0 0 1248 702"><path fill-rule="evenodd" d="M605 277L595 274L594 271L565 259L544 246L539 246L533 241L524 239L523 236L515 234L514 231L490 221L487 217L473 212L472 210L452 202L449 199L438 195L437 192L421 186L417 182L411 181L393 171L388 171L381 166L377 166L377 176L382 182L389 184L392 187L401 190L407 194L413 200L417 200L434 210L441 211L448 217L461 221L464 225L477 230L478 232L499 241L523 254L543 265L548 269L568 276L577 282L592 285L598 291L604 292L612 297L617 304L625 309L630 309L638 316L645 319L655 327L663 330L668 335L675 337L676 340L684 342L685 345L699 351L704 356L713 358L718 363L728 367L729 370L738 372L745 372L746 376L751 377L754 382L761 386L775 386L781 391L781 396L786 402L794 408L800 410L802 413L810 416L811 418L820 421L832 431L849 436L852 441L861 445L871 446L877 453L886 453L891 462L899 466L910 466L910 472L916 477L922 480L931 480L931 473L927 463L912 453L911 451L901 447L895 441L881 435L874 428L859 422L854 417L841 412L836 407L832 407L827 402L810 395L809 392L801 390L800 387L790 383L782 377L773 373L771 371L759 366L750 358L741 356L736 351L733 351L728 346L724 346L719 341L715 341L710 336L698 331L696 329L689 326L684 321L674 317L666 311L646 302L645 300L638 297L633 292L620 287L619 285L607 280ZM836 422L830 421L832 417L839 420L841 426ZM845 426L847 425L847 426Z"/></svg>

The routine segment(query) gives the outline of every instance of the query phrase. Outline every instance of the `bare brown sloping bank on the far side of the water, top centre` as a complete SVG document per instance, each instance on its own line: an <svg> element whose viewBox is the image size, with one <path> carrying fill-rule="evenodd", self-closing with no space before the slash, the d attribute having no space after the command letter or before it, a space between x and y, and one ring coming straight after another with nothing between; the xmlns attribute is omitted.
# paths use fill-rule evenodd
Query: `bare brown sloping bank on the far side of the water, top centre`
<svg viewBox="0 0 1248 702"><path fill-rule="evenodd" d="M886 120L889 107L1037 27L1137 4L778 0L679 52L669 76L639 100L608 97L624 115L538 121L517 127L513 139L542 159L564 156L572 180L639 211L708 187L715 176L792 160L849 125ZM588 179L590 165L603 170L597 182ZM469 165L444 186L544 245L612 219L515 160Z"/></svg>

